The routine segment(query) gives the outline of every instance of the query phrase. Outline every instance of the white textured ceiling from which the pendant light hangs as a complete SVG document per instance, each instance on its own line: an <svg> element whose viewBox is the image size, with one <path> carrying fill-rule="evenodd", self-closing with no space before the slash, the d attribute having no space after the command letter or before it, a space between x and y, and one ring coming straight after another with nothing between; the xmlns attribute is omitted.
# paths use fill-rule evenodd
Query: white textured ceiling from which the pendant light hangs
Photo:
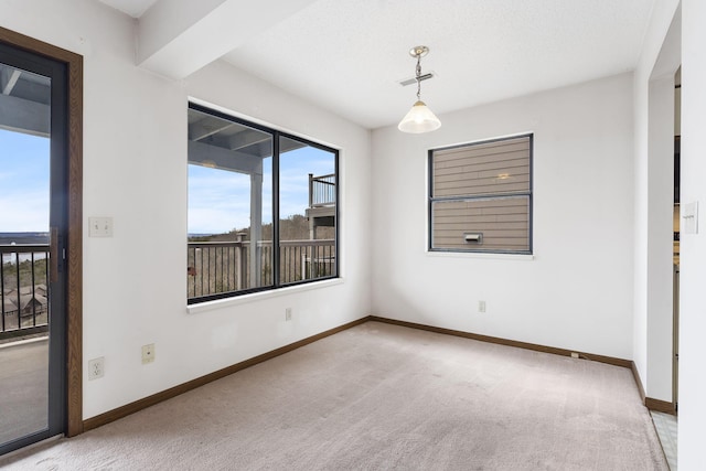
<svg viewBox="0 0 706 471"><path fill-rule="evenodd" d="M136 17L153 3L101 1ZM653 3L318 0L223 58L377 128L396 124L416 99L415 86L398 84L414 75L407 51L415 45L429 46L422 72L436 74L422 83L421 97L443 114L632 71Z"/></svg>

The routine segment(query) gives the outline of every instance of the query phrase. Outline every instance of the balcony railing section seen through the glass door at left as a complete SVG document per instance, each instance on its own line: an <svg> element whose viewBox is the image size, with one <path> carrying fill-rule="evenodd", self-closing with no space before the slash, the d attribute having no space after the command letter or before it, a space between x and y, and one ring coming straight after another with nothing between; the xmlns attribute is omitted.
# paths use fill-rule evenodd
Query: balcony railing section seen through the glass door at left
<svg viewBox="0 0 706 471"><path fill-rule="evenodd" d="M49 245L0 245L0 340L49 329Z"/></svg>

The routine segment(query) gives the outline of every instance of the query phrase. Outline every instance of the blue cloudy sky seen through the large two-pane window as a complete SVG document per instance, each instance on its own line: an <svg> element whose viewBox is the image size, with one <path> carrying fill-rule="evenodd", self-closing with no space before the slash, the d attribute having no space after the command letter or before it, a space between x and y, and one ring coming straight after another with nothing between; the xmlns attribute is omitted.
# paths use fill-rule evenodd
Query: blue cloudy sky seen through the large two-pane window
<svg viewBox="0 0 706 471"><path fill-rule="evenodd" d="M309 173L334 172L333 153L311 147L280 157L280 214L304 214L309 205ZM272 221L271 159L263 176L263 223ZM250 226L249 175L189 165L189 233L222 234Z"/></svg>

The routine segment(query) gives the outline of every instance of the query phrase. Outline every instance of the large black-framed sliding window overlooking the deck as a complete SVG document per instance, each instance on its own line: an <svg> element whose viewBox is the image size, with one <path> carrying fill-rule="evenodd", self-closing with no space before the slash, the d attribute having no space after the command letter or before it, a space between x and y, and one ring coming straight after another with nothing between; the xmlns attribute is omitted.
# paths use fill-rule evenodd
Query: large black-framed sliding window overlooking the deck
<svg viewBox="0 0 706 471"><path fill-rule="evenodd" d="M190 105L189 303L338 277L338 157Z"/></svg>

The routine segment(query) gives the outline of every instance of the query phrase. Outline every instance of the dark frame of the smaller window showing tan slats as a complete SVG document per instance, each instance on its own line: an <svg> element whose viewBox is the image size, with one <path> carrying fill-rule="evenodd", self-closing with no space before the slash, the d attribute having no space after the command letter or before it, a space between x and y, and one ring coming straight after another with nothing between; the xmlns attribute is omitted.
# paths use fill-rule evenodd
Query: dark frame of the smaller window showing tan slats
<svg viewBox="0 0 706 471"><path fill-rule="evenodd" d="M528 138L530 140L530 185L526 192L511 193L480 193L473 195L454 195L454 196L435 196L434 193L434 157L435 152L470 148L480 144L502 142L512 139ZM482 139L460 144L439 147L429 149L427 153L427 251L429 253L447 253L447 254L486 254L486 255L518 255L526 256L534 254L534 132L523 132L518 135L503 136L499 138ZM454 202L454 201L488 201L491 199L512 199L527 197L527 249L522 250L502 250L502 249L482 249L478 247L461 248L438 248L434 247L434 203Z"/></svg>

